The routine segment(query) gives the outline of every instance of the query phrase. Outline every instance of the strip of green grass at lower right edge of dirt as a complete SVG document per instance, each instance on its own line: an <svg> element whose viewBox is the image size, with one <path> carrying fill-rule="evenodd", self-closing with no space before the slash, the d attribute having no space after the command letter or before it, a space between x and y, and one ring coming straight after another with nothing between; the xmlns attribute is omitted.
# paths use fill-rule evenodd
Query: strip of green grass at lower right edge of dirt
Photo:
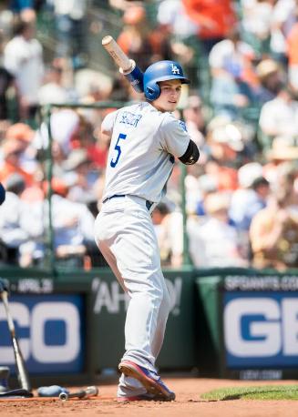
<svg viewBox="0 0 298 417"><path fill-rule="evenodd" d="M298 384L221 388L219 390L205 392L200 397L208 401L298 400Z"/></svg>

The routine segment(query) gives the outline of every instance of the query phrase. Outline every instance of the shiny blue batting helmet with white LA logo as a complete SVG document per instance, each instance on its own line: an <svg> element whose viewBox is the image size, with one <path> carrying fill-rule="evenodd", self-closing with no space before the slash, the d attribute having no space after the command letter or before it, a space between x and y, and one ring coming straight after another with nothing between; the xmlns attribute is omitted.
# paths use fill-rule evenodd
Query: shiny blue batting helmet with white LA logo
<svg viewBox="0 0 298 417"><path fill-rule="evenodd" d="M149 101L156 100L160 95L159 81L180 79L182 84L190 84L183 75L183 69L175 61L159 61L149 66L144 73L144 93Z"/></svg>

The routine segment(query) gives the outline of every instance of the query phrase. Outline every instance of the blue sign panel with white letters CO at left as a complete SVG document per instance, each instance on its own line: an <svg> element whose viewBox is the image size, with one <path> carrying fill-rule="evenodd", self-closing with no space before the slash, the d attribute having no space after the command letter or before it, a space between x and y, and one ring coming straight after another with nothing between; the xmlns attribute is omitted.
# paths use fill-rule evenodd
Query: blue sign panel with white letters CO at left
<svg viewBox="0 0 298 417"><path fill-rule="evenodd" d="M80 371L84 340L81 296L15 296L9 301L9 307L29 371ZM14 351L2 304L0 334L1 364L13 365Z"/></svg>

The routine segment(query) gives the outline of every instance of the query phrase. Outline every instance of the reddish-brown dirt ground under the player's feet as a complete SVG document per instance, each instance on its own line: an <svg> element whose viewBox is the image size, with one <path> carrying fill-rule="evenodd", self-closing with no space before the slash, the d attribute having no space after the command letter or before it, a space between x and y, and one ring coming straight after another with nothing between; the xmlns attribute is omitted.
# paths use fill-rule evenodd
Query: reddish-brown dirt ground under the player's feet
<svg viewBox="0 0 298 417"><path fill-rule="evenodd" d="M62 402L59 399L32 399L0 401L1 417L297 417L298 402L294 401L243 401L232 400L225 402L206 402L200 399L200 394L215 388L295 384L297 381L231 381L200 378L167 379L164 381L176 392L175 402L130 402L118 403L115 400L116 383L98 385L98 397L87 400L71 399ZM68 387L67 387L68 388ZM75 388L70 389L77 390Z"/></svg>

